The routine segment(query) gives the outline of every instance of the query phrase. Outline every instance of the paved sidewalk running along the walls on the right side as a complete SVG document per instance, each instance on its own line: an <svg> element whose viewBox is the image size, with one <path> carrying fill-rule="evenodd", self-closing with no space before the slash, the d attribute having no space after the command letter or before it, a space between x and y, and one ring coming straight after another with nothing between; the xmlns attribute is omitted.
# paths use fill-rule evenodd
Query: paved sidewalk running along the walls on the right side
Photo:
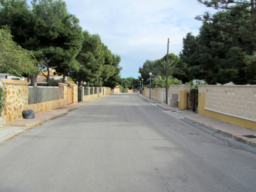
<svg viewBox="0 0 256 192"><path fill-rule="evenodd" d="M183 109L178 107L172 107L167 104L163 104L161 102L158 102L153 99L149 99L148 97L138 94L141 98L144 100L155 103L157 106L164 108L165 110L170 110L172 112L179 112ZM187 111L187 110L183 110ZM218 132L224 136L234 138L237 141L249 144L251 146L256 147L256 131L250 130L244 127L232 125L226 122L222 122L210 117L206 117L197 113L188 113L184 118L187 120L190 120L191 122L194 122L196 124L199 124L201 126L207 127L210 130L214 130L215 132Z"/></svg>

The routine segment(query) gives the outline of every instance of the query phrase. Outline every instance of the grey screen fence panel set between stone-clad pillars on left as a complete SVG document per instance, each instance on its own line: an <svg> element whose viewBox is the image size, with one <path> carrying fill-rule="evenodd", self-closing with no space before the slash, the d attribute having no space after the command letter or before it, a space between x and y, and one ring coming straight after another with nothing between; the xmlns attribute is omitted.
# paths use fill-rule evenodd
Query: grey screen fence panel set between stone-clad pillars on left
<svg viewBox="0 0 256 192"><path fill-rule="evenodd" d="M62 99L62 88L60 87L29 87L28 104L42 103Z"/></svg>

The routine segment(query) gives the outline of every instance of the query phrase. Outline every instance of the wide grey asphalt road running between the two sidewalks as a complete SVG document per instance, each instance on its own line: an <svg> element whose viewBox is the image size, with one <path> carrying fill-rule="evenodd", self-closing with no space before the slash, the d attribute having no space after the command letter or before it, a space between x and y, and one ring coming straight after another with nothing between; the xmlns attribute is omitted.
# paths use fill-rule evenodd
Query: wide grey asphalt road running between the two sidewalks
<svg viewBox="0 0 256 192"><path fill-rule="evenodd" d="M255 192L256 154L137 94L95 100L0 146L0 192Z"/></svg>

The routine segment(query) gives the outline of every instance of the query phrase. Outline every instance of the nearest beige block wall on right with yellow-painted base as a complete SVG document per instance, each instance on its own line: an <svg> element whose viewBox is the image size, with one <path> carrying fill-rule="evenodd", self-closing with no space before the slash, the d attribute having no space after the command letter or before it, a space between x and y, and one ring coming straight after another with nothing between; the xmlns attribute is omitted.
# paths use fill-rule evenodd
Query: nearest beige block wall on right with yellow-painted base
<svg viewBox="0 0 256 192"><path fill-rule="evenodd" d="M256 85L201 85L198 114L256 130Z"/></svg>

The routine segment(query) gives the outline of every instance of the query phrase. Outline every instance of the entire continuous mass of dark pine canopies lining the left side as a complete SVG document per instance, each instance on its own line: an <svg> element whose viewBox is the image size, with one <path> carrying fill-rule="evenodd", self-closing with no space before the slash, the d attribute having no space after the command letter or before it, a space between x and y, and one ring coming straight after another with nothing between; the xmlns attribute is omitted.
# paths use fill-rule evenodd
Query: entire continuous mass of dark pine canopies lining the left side
<svg viewBox="0 0 256 192"><path fill-rule="evenodd" d="M26 0L0 0L0 26L10 26L14 41L33 52L38 68L48 71L48 85L50 68L80 84L117 84L120 56L112 54L97 34L83 32L63 0L32 0L31 5Z"/></svg>

